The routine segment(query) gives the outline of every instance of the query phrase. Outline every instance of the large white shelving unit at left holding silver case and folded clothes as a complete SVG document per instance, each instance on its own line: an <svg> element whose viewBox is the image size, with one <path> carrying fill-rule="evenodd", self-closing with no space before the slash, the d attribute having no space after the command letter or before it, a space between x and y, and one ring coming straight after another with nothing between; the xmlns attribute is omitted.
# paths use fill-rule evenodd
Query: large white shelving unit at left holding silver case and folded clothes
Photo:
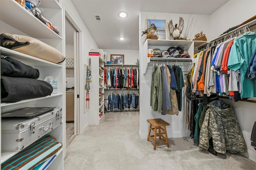
<svg viewBox="0 0 256 170"><path fill-rule="evenodd" d="M34 17L30 12L18 4L15 0L1 0L0 2L0 33L11 33L18 35L26 35L34 37L56 48L60 52L64 52L63 47L63 12L61 6L55 0L41 0L40 7L44 10L44 17L58 27L60 35L56 34L44 23ZM13 11L13 12L10 12ZM20 107L56 107L62 108L62 121L65 122L66 104L64 96L64 80L65 80L65 61L60 64L50 63L42 59L25 55L4 47L0 47L1 55L12 57L24 64L37 68L40 72L38 80L44 80L46 76L52 76L58 82L58 93L50 96L22 100L16 103L1 103L0 110L7 111ZM26 87L24 87L26 88ZM64 138L65 123L62 123L56 129L48 133L55 137L63 147L57 152L56 158L48 166L47 169L64 169ZM17 152L1 152L0 162L6 161Z"/></svg>

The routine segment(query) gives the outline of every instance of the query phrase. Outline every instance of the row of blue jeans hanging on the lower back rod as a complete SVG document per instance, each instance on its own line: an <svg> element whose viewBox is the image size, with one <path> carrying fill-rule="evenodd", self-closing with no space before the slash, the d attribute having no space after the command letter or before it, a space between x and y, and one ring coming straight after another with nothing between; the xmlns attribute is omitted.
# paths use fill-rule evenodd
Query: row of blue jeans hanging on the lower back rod
<svg viewBox="0 0 256 170"><path fill-rule="evenodd" d="M131 106L135 109L139 106L139 93L138 92L122 92L118 94L116 92L111 92L108 94L107 100L107 110L113 111L114 109L124 110L124 108L130 109Z"/></svg>

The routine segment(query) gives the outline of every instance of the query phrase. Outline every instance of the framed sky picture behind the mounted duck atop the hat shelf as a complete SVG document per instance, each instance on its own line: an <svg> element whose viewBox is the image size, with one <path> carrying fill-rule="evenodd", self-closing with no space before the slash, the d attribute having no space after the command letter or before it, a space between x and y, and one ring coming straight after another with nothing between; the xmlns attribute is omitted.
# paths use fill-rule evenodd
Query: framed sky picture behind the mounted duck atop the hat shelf
<svg viewBox="0 0 256 170"><path fill-rule="evenodd" d="M155 35L158 35L158 39L166 39L166 20L165 19L146 19L147 28L150 28L150 25L154 23L156 26Z"/></svg>

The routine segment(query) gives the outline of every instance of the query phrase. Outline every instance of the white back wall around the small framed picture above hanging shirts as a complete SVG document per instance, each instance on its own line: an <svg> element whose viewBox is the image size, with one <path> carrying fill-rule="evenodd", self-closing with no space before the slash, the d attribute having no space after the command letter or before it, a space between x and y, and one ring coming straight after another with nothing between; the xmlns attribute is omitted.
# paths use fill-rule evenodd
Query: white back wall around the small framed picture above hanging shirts
<svg viewBox="0 0 256 170"><path fill-rule="evenodd" d="M110 61L111 54L123 54L124 64L136 64L137 59L139 59L138 50L115 50L115 49L103 49L104 52L108 53L107 61Z"/></svg>

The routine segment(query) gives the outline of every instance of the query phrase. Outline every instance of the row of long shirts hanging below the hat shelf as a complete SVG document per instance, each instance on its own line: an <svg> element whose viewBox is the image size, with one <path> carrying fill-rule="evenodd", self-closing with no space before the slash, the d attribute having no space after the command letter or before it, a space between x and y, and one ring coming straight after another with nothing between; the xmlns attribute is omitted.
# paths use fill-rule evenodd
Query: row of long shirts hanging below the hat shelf
<svg viewBox="0 0 256 170"><path fill-rule="evenodd" d="M184 80L180 66L153 65L150 106L161 114L178 115L182 108Z"/></svg>

